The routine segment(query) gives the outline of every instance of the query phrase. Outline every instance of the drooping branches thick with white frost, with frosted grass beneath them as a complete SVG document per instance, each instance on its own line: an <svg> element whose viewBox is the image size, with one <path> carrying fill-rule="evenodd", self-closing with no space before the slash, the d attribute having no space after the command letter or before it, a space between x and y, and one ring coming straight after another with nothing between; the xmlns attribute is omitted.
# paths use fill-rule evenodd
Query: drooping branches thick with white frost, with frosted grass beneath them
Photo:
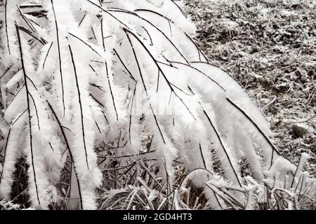
<svg viewBox="0 0 316 224"><path fill-rule="evenodd" d="M1 209L310 209L171 0L1 1ZM245 172L247 171L247 172Z"/></svg>

